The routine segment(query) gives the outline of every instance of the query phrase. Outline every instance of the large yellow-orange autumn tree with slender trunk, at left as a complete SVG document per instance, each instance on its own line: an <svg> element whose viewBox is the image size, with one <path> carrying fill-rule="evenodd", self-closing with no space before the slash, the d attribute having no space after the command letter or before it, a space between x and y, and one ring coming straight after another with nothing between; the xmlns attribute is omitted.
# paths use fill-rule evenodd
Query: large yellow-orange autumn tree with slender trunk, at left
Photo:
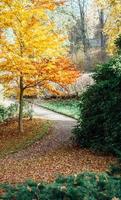
<svg viewBox="0 0 121 200"><path fill-rule="evenodd" d="M6 94L19 98L19 130L23 131L23 97L45 88L57 93L53 82L65 87L78 77L65 47L65 38L50 20L56 0L0 1L0 82Z"/></svg>

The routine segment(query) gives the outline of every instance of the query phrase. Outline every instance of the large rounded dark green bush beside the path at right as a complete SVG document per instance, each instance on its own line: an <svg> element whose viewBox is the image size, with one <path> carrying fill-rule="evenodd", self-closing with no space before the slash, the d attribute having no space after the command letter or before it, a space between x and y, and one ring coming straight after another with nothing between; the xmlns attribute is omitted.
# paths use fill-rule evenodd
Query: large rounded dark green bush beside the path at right
<svg viewBox="0 0 121 200"><path fill-rule="evenodd" d="M77 143L94 150L121 154L121 55L97 67L95 84L81 97Z"/></svg>

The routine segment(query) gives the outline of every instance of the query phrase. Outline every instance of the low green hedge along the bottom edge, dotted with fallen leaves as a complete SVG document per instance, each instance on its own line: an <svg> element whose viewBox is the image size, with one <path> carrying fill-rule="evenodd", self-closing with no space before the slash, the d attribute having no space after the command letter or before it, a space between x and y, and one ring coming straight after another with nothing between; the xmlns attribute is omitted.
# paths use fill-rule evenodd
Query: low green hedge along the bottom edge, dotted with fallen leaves
<svg viewBox="0 0 121 200"><path fill-rule="evenodd" d="M108 174L83 173L60 177L51 184L29 181L19 185L1 185L5 200L119 200L121 178Z"/></svg>

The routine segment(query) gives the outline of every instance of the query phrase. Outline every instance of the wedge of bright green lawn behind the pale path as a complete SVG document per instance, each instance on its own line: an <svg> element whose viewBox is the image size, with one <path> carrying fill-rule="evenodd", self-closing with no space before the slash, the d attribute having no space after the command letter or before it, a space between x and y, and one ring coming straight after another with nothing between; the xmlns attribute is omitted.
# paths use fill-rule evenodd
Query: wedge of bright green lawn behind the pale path
<svg viewBox="0 0 121 200"><path fill-rule="evenodd" d="M78 119L80 116L79 100L48 100L41 103L45 108Z"/></svg>

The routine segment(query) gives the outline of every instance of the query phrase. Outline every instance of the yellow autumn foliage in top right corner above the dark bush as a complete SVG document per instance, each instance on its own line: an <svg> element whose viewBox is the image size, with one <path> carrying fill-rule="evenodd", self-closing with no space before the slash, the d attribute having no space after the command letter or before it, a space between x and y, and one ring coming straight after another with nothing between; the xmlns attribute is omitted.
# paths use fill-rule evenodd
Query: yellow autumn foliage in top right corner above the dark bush
<svg viewBox="0 0 121 200"><path fill-rule="evenodd" d="M115 52L115 40L121 34L121 1L120 0L96 0L97 5L107 10L107 21L104 32L108 36L108 51Z"/></svg>

